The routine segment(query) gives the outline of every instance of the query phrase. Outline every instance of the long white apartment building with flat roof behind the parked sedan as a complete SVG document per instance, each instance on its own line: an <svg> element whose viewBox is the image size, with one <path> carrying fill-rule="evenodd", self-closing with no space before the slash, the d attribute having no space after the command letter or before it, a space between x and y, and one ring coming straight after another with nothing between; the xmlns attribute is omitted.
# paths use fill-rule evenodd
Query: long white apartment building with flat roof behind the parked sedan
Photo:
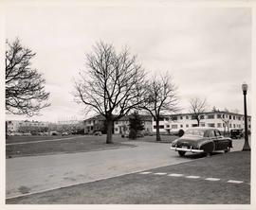
<svg viewBox="0 0 256 210"><path fill-rule="evenodd" d="M229 112L209 112L200 114L200 127L217 128L220 131L230 131L231 129L244 129L245 119L243 114ZM248 131L251 130L251 116L247 117ZM179 130L187 130L197 126L197 121L193 114L172 114L164 115L159 122L161 133L172 133ZM153 121L153 131L156 131L155 121Z"/></svg>

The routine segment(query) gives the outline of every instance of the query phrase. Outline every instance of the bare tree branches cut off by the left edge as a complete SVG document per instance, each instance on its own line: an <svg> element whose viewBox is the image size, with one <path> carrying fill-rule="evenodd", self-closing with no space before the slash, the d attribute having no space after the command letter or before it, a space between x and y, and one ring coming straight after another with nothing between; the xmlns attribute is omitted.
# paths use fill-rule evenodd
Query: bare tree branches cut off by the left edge
<svg viewBox="0 0 256 210"><path fill-rule="evenodd" d="M6 110L11 114L28 116L49 106L49 93L45 91L45 79L31 69L31 59L36 54L22 46L17 39L7 42L6 51Z"/></svg>

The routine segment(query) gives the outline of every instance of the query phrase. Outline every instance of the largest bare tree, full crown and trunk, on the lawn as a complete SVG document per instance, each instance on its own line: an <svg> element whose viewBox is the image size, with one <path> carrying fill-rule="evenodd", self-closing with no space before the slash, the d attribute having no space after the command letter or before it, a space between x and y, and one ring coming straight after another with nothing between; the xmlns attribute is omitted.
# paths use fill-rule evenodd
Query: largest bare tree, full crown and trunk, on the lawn
<svg viewBox="0 0 256 210"><path fill-rule="evenodd" d="M82 102L87 111L105 117L106 143L113 143L114 121L128 114L141 103L144 70L128 49L117 53L112 44L100 42L93 52L86 54L87 70L80 73L75 82L75 99Z"/></svg>

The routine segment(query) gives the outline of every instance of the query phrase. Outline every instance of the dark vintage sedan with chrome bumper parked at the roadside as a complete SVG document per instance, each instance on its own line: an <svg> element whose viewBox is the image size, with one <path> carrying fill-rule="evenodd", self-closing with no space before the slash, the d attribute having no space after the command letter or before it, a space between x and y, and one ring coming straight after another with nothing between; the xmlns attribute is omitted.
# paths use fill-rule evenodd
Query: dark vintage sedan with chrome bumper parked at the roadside
<svg viewBox="0 0 256 210"><path fill-rule="evenodd" d="M232 140L223 137L221 132L214 128L195 127L185 131L184 135L172 143L171 149L178 151L180 156L186 152L210 154L214 151L229 152Z"/></svg>

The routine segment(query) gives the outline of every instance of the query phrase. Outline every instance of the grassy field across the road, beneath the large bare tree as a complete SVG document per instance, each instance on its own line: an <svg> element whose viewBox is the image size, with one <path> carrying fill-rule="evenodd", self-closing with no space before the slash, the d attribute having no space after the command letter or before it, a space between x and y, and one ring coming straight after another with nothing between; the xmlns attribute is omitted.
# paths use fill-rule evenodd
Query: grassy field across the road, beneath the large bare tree
<svg viewBox="0 0 256 210"><path fill-rule="evenodd" d="M176 137L162 136L162 142L171 142L174 138ZM106 144L105 141L106 135L9 136L6 140L6 157L12 158L28 155L46 155L133 147L131 144L125 144L125 142L130 141L130 139L121 138L120 135L113 135L114 144ZM155 142L155 136L145 136L132 141Z"/></svg>

